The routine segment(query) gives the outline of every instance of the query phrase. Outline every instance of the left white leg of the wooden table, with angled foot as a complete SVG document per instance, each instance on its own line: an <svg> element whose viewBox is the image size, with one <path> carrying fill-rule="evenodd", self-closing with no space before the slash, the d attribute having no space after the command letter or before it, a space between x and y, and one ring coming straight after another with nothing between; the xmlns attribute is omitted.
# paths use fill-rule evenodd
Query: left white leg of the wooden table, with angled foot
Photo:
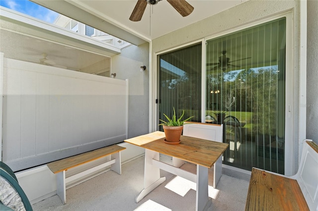
<svg viewBox="0 0 318 211"><path fill-rule="evenodd" d="M146 149L145 151L145 172L144 172L144 189L136 197L136 202L140 202L147 194L157 188L165 177L160 178L160 168L153 165L153 159L159 160L159 153Z"/></svg>

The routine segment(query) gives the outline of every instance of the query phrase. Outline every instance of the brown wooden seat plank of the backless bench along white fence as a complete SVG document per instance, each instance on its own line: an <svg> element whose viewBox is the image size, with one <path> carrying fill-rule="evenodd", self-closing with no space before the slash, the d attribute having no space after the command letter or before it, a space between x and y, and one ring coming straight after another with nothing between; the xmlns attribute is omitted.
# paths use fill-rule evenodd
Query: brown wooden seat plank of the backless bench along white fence
<svg viewBox="0 0 318 211"><path fill-rule="evenodd" d="M70 168L84 164L86 162L90 162L98 158L103 158L111 154L118 153L125 149L126 149L125 147L121 147L118 145L111 145L111 146L103 147L103 148L93 150L87 153L82 153L76 156L72 156L69 158L53 161L48 163L47 166L50 168L50 170L53 173L56 174L61 171L68 170Z"/></svg>

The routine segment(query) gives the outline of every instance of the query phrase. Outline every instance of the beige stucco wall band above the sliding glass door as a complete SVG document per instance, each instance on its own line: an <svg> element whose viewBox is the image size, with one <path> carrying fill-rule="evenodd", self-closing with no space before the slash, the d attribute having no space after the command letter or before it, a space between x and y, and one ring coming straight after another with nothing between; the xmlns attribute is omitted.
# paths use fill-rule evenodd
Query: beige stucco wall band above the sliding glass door
<svg viewBox="0 0 318 211"><path fill-rule="evenodd" d="M284 11L294 10L295 14L297 14L299 13L298 6L299 1L293 0L249 0L236 7L153 40L152 51L153 53L157 53L191 41L235 29L239 26L271 17ZM296 15L295 22L298 21L299 17Z"/></svg>

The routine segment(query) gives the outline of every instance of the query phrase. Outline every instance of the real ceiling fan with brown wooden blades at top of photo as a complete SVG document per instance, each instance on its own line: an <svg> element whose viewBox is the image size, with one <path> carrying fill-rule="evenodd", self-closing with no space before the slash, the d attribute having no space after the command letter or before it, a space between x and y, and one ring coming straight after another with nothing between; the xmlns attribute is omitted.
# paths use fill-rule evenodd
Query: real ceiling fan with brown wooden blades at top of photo
<svg viewBox="0 0 318 211"><path fill-rule="evenodd" d="M140 21L145 12L147 3L150 5L155 5L160 0L138 0L133 12L130 15L129 20L131 21ZM191 14L194 7L191 6L185 0L167 0L173 8L175 8L183 17Z"/></svg>

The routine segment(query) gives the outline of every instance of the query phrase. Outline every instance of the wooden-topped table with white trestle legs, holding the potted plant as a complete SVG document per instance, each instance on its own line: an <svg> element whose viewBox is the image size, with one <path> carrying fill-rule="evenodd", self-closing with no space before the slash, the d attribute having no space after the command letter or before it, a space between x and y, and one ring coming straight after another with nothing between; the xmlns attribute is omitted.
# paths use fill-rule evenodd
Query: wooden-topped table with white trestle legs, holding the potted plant
<svg viewBox="0 0 318 211"><path fill-rule="evenodd" d="M138 203L152 190L165 181L160 177L160 169L181 176L197 184L196 211L207 210L212 201L208 196L208 169L222 156L229 144L181 136L180 144L164 143L164 133L156 131L146 135L127 139L125 142L143 147L145 151L144 189L136 197ZM159 153L188 161L197 165L197 173L193 174L176 165L159 161Z"/></svg>

